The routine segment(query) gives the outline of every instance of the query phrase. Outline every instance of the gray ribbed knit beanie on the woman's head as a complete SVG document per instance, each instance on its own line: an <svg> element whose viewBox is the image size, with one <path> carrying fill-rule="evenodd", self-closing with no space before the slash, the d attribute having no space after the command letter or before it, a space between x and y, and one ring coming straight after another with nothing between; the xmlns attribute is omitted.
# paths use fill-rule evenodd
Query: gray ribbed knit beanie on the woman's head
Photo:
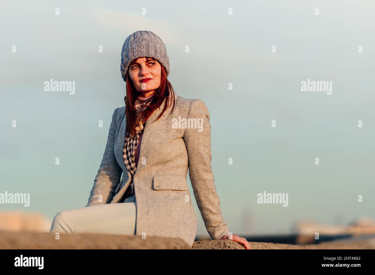
<svg viewBox="0 0 375 275"><path fill-rule="evenodd" d="M136 31L125 39L121 50L121 75L125 82L130 62L146 56L159 61L164 66L166 75L169 75L169 58L163 41L152 31Z"/></svg>

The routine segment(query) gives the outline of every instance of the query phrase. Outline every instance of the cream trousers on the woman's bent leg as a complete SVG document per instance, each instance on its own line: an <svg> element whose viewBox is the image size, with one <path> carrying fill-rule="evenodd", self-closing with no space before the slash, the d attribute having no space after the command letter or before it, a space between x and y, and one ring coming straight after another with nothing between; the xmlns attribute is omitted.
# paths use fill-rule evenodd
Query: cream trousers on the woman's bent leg
<svg viewBox="0 0 375 275"><path fill-rule="evenodd" d="M52 221L50 233L106 233L135 235L135 196L116 204L100 204L61 211Z"/></svg>

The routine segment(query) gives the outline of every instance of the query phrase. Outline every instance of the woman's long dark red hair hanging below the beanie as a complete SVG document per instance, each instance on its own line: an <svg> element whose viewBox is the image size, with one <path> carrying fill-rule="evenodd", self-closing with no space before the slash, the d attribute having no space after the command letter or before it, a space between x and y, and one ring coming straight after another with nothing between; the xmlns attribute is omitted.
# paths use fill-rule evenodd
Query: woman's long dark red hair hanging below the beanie
<svg viewBox="0 0 375 275"><path fill-rule="evenodd" d="M152 57L146 57L146 62L148 60L155 61L155 59L152 58ZM132 62L130 62L129 68L130 68L130 65L135 63L135 61L136 61L136 59L134 59ZM139 113L139 118L141 119L141 121L147 120L151 116L153 111L156 110L157 108L159 108L161 106L161 104L163 103L163 101L166 100L166 103L164 105L164 109L163 109L162 113L159 114L159 116L156 119L156 120L158 120L163 115L165 110L169 107L168 104L171 105L171 103L169 103L169 93L170 92L172 93L172 98L173 98L172 111L174 109L175 98L174 98L174 93L172 92L173 87L166 77L166 71L165 71L165 68L164 68L163 65L161 65L161 69L162 70L161 70L161 76L160 76L160 86L159 86L159 88L157 88L155 90L150 104L148 106L146 106L144 108L144 110L142 110ZM134 88L133 81L131 80L131 78L129 76L129 69L128 69L128 71L126 73L126 96L124 97L125 115L126 115L127 131L128 132L130 131L130 134L133 135L133 136L135 136L135 133L136 133L135 127L138 126L138 125L135 125L136 114L135 114L135 109L134 109L134 103L135 103L135 100L138 97L138 95L139 95L139 92L136 91L136 89Z"/></svg>

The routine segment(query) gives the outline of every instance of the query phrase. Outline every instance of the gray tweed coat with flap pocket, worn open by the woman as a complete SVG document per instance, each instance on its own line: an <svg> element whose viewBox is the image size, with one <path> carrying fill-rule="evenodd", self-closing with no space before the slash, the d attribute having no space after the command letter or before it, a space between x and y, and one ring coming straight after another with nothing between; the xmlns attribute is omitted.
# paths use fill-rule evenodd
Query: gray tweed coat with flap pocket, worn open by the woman
<svg viewBox="0 0 375 275"><path fill-rule="evenodd" d="M220 210L211 169L210 114L200 99L186 99L175 92L173 113L162 117L165 101L145 124L139 162L134 175L136 235L182 238L192 246L197 220L189 187L212 239L229 234ZM172 100L172 97L170 96ZM202 131L173 128L173 118L202 119ZM125 106L114 110L103 159L86 206L118 203L130 184L130 172L123 161L126 132ZM121 178L122 174L122 179ZM102 198L102 199L101 199Z"/></svg>

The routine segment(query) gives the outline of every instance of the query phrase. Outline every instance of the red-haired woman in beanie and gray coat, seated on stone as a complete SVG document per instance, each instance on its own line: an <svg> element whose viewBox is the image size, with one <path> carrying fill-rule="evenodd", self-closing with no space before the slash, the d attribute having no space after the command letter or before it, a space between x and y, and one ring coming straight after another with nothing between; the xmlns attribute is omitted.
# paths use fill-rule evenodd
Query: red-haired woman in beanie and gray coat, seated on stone
<svg viewBox="0 0 375 275"><path fill-rule="evenodd" d="M178 96L169 83L164 43L151 31L124 42L125 106L114 110L103 159L86 207L62 211L50 232L182 238L192 246L197 220L186 181L212 239L232 239L211 169L210 114L200 99ZM122 174L122 179L120 180Z"/></svg>

